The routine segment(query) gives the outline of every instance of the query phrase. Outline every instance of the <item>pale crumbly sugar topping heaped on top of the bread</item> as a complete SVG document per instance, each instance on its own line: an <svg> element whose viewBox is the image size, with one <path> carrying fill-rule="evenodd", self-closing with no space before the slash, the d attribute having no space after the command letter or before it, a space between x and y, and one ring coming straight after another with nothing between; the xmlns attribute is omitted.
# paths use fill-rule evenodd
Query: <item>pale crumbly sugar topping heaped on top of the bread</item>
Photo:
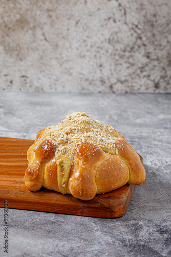
<svg viewBox="0 0 171 257"><path fill-rule="evenodd" d="M118 132L112 126L104 125L98 120L93 120L87 113L79 112L68 114L66 119L61 120L56 126L47 127L44 138L39 138L36 145L51 138L59 145L56 155L71 155L78 145L89 141L99 145L104 152L112 150L113 153L117 153L116 137Z"/></svg>

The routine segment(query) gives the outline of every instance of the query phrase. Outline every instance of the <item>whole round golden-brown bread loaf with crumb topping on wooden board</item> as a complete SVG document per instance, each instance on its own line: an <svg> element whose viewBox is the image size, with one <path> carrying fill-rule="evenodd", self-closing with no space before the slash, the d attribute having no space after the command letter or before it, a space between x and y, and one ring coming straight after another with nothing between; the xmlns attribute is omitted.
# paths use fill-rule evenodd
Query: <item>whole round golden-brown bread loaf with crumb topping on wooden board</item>
<svg viewBox="0 0 171 257"><path fill-rule="evenodd" d="M90 200L126 183L145 182L140 157L129 143L86 113L67 115L41 130L27 156L25 184L30 191L43 186Z"/></svg>

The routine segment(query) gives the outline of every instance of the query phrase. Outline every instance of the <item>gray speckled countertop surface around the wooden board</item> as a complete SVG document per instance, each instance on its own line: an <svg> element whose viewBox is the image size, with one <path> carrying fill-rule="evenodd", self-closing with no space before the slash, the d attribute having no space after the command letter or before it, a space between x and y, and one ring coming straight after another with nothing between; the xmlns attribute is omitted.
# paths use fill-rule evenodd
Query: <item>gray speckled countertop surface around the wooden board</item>
<svg viewBox="0 0 171 257"><path fill-rule="evenodd" d="M113 125L142 155L146 182L120 218L9 209L8 254L2 228L0 255L171 256L170 105L171 95L1 92L0 136L35 139L41 128L84 111ZM3 215L0 208L0 224Z"/></svg>

